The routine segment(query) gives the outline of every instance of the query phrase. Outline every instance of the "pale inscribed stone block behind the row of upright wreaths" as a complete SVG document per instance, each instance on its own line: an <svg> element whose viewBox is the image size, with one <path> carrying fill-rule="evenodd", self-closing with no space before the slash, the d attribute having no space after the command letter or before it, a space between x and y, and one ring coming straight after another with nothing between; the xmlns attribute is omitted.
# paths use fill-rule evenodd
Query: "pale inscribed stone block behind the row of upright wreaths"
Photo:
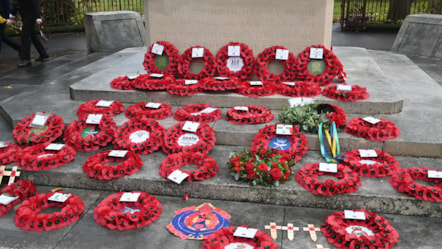
<svg viewBox="0 0 442 249"><path fill-rule="evenodd" d="M230 41L255 56L282 45L295 54L331 45L333 0L145 0L146 44L169 41L182 53L206 46L213 53Z"/></svg>

